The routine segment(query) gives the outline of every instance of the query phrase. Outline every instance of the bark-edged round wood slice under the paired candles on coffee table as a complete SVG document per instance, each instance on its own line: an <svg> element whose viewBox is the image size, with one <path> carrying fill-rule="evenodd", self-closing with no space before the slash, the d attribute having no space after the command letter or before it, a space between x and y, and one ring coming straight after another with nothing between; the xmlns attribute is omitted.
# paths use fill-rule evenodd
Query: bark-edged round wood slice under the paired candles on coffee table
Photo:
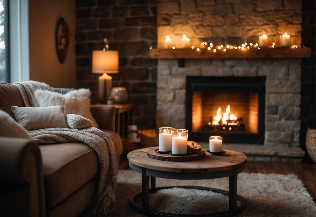
<svg viewBox="0 0 316 217"><path fill-rule="evenodd" d="M153 158L156 160L164 160L164 161L191 161L191 160L199 160L199 159L205 158L205 152L201 150L197 154L190 153L189 155L186 155L186 156L173 156L171 154L159 154L155 152L155 148L153 148L147 151L147 156L149 158Z"/></svg>

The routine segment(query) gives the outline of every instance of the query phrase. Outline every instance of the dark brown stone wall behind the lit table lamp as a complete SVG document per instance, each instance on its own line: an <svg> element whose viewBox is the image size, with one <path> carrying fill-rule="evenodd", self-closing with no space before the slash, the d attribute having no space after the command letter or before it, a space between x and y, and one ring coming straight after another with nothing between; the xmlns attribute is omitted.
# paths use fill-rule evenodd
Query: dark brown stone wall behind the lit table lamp
<svg viewBox="0 0 316 217"><path fill-rule="evenodd" d="M91 73L91 56L107 38L110 50L119 50L113 86L127 88L139 129L155 128L157 60L149 59L149 47L156 47L156 31L155 0L76 0L77 88L89 88L98 102L100 75Z"/></svg>

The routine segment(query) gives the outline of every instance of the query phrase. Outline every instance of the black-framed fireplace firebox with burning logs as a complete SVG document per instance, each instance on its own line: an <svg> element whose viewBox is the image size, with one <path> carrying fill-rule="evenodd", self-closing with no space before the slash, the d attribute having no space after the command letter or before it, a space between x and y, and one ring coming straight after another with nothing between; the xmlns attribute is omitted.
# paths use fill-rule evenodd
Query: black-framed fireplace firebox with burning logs
<svg viewBox="0 0 316 217"><path fill-rule="evenodd" d="M265 77L186 79L188 139L218 135L226 143L264 143Z"/></svg>

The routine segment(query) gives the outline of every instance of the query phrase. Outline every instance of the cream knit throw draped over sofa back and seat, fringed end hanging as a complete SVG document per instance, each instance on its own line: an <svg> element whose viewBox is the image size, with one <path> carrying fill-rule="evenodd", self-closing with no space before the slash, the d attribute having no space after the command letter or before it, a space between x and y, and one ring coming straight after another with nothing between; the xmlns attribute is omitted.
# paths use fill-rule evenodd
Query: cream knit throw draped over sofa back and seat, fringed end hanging
<svg viewBox="0 0 316 217"><path fill-rule="evenodd" d="M33 100L35 100L32 95L35 91L34 88L49 90L47 84L34 81L21 82L17 85L25 105L33 107L37 105L33 103ZM46 128L29 131L28 134L34 141L41 144L80 141L97 152L100 178L93 213L106 214L116 208L114 192L117 182L118 162L113 141L106 133L93 127L92 122L81 115L68 114L66 119L71 128Z"/></svg>

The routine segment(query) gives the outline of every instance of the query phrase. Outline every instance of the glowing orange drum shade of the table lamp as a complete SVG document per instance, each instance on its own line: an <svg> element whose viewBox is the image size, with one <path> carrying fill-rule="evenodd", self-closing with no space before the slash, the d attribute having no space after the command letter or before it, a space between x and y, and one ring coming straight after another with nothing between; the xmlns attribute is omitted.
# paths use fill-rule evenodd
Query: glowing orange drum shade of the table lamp
<svg viewBox="0 0 316 217"><path fill-rule="evenodd" d="M92 51L92 73L119 73L119 51Z"/></svg>

